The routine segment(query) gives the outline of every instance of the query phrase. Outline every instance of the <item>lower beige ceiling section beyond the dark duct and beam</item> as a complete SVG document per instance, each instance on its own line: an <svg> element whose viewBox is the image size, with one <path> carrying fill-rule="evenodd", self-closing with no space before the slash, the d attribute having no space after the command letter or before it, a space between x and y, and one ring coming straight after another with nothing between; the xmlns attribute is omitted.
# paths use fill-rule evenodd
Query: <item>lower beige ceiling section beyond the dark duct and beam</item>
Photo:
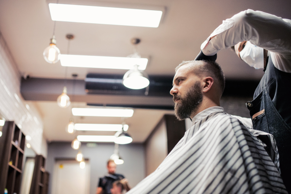
<svg viewBox="0 0 291 194"><path fill-rule="evenodd" d="M75 134L65 132L65 127L70 118L74 118L75 123L90 124L121 124L120 117L94 117L94 116L72 116L71 108L87 108L86 103L73 103L68 108L59 107L55 102L38 101L36 108L43 118L45 126L44 136L48 141L72 141L76 135L114 135L113 131L77 131ZM150 134L152 129L162 119L164 114L173 114L173 111L134 109L132 117L126 118L129 125L128 133L134 143L142 143Z"/></svg>

